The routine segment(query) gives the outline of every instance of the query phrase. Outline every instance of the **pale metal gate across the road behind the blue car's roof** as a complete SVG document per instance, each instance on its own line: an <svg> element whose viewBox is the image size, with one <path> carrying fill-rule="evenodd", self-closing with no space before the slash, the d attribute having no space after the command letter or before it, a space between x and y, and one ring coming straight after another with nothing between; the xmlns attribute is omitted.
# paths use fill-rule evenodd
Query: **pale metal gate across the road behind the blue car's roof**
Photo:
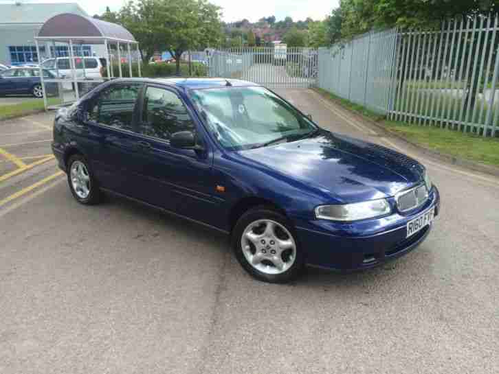
<svg viewBox="0 0 499 374"><path fill-rule="evenodd" d="M272 89L308 89L318 75L318 51L276 47L214 50L209 58L210 77L249 80Z"/></svg>

